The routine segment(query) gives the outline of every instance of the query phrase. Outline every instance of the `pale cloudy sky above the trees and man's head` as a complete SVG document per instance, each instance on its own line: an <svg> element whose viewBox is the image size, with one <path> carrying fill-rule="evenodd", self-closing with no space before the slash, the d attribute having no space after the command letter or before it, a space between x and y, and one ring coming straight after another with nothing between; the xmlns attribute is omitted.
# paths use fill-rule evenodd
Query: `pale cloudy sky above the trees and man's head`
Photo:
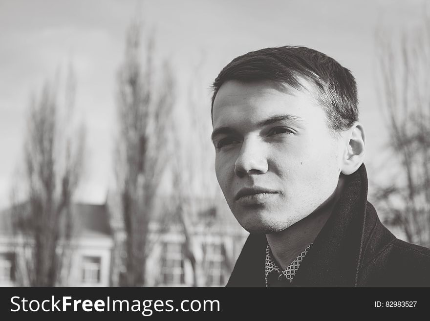
<svg viewBox="0 0 430 321"><path fill-rule="evenodd" d="M324 52L356 78L366 129L366 167L377 179L389 139L376 84L375 32L407 30L425 0L0 0L0 209L22 162L30 97L68 64L77 79L76 114L87 128L86 171L76 199L102 203L113 179L116 75L125 33L138 17L155 33L157 55L179 81L202 61L202 108L221 68L251 50L285 44ZM208 143L210 141L208 140Z"/></svg>

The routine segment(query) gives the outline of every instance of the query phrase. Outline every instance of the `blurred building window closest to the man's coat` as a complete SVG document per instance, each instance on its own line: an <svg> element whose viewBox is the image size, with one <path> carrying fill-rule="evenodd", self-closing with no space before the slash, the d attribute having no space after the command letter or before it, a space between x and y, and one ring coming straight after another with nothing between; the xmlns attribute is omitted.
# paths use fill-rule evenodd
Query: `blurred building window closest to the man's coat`
<svg viewBox="0 0 430 321"><path fill-rule="evenodd" d="M206 244L206 285L223 286L224 285L224 255L222 244Z"/></svg>

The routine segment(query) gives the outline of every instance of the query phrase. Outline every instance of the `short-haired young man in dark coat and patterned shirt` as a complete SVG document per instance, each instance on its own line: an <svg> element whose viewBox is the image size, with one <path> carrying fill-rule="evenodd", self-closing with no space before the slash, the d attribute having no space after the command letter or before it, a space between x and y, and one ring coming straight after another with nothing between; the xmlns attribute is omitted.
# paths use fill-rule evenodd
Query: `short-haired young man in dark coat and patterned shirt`
<svg viewBox="0 0 430 321"><path fill-rule="evenodd" d="M430 285L430 250L367 202L357 104L349 70L306 47L249 52L219 73L215 171L251 233L228 286Z"/></svg>

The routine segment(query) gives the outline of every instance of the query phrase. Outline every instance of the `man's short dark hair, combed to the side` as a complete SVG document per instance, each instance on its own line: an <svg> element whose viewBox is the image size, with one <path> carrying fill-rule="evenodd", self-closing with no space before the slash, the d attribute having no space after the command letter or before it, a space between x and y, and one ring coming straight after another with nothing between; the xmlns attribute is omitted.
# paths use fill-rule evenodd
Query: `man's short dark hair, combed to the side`
<svg viewBox="0 0 430 321"><path fill-rule="evenodd" d="M329 128L345 130L358 120L357 85L351 72L322 52L301 46L265 48L233 59L213 84L211 115L219 88L229 80L273 81L303 90L299 77L315 84Z"/></svg>

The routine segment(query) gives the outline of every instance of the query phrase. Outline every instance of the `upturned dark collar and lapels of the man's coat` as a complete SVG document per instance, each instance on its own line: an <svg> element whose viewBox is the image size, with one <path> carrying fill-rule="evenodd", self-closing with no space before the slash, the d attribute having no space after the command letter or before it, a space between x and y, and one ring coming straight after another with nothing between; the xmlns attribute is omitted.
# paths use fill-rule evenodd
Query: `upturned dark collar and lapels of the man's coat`
<svg viewBox="0 0 430 321"><path fill-rule="evenodd" d="M363 164L355 173L348 176L344 192L303 258L291 285L358 284L370 234L375 227L384 229L373 207L369 205L367 174ZM251 234L248 237L227 286L265 285L266 246L264 234Z"/></svg>

